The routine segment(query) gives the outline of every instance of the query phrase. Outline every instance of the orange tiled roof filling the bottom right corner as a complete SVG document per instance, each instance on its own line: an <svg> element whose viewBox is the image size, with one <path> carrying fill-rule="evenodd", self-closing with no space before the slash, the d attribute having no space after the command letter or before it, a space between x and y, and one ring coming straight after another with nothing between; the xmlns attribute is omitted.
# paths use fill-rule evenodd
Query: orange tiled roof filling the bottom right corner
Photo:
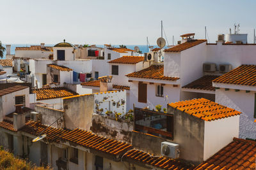
<svg viewBox="0 0 256 170"><path fill-rule="evenodd" d="M234 138L195 169L255 169L256 142Z"/></svg>

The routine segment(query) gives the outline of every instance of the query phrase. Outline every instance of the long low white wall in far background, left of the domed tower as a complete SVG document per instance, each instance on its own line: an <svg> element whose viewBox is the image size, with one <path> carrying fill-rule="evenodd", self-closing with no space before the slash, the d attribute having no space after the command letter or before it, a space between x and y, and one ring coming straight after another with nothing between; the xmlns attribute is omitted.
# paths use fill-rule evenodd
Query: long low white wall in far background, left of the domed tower
<svg viewBox="0 0 256 170"><path fill-rule="evenodd" d="M30 59L48 59L52 52L45 52L41 50L15 50L15 57L25 57Z"/></svg>

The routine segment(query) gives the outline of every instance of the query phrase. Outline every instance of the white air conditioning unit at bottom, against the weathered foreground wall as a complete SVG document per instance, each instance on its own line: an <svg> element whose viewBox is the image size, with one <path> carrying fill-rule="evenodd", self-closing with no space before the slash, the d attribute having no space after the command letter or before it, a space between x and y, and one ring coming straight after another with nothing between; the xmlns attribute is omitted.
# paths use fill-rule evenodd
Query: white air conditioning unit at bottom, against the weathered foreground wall
<svg viewBox="0 0 256 170"><path fill-rule="evenodd" d="M180 145L170 142L161 143L161 155L177 159L180 157Z"/></svg>

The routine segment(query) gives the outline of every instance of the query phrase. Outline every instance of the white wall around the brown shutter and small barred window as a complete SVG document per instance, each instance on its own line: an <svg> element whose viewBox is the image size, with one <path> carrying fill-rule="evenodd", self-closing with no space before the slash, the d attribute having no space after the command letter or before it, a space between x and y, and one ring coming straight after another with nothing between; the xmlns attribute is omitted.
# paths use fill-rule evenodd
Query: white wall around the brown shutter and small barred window
<svg viewBox="0 0 256 170"><path fill-rule="evenodd" d="M143 81L145 83L145 81ZM164 97L157 97L156 96L156 85L159 85L159 83L154 83L153 85L150 85L147 83L147 103L140 103L138 102L138 81L132 81L131 87L130 87L130 102L129 102L129 108L133 109L133 104L135 104L138 108L145 108L147 106L150 107L150 109L154 108L157 104L162 105L163 108L167 107L168 103L173 103L179 101L180 97L180 89L179 87L173 87L173 85L165 84L163 96L168 96L168 100L164 100Z"/></svg>

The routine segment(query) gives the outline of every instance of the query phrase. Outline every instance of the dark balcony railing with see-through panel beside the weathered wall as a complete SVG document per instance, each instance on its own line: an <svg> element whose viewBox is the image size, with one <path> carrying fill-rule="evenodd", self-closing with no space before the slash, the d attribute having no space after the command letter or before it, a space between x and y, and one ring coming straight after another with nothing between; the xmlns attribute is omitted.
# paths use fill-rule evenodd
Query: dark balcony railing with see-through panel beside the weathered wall
<svg viewBox="0 0 256 170"><path fill-rule="evenodd" d="M173 115L134 108L134 131L173 139Z"/></svg>

